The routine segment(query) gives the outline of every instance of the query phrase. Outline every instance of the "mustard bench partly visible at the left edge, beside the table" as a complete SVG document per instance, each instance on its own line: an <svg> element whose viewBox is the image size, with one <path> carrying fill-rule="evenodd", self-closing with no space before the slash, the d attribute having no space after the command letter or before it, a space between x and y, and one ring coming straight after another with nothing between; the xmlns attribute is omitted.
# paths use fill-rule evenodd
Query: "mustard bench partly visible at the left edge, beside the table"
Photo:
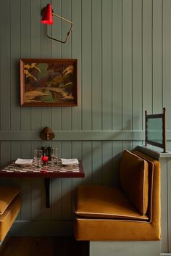
<svg viewBox="0 0 171 256"><path fill-rule="evenodd" d="M4 240L19 212L19 187L0 186L0 242Z"/></svg>

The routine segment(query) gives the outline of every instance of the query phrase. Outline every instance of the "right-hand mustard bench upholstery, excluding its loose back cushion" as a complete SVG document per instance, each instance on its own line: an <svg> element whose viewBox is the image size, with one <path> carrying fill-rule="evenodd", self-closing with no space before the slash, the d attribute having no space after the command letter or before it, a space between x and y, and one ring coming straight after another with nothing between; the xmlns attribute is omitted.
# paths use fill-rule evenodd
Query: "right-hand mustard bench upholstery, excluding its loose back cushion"
<svg viewBox="0 0 171 256"><path fill-rule="evenodd" d="M75 193L75 238L89 241L161 239L160 167L157 160L133 152L148 163L149 199L145 215L125 191L107 186L78 186Z"/></svg>

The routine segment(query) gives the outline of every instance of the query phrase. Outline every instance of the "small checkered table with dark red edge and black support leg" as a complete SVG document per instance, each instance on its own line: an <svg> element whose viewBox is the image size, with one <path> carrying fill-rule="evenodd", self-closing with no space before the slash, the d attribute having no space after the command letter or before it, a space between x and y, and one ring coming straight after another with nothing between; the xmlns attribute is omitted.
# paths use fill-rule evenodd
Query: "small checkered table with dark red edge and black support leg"
<svg viewBox="0 0 171 256"><path fill-rule="evenodd" d="M10 162L0 168L0 178L44 178L46 186L46 207L50 207L50 178L83 178L85 173L82 162L78 165L57 165L48 162L42 168L35 168L35 165L19 166Z"/></svg>

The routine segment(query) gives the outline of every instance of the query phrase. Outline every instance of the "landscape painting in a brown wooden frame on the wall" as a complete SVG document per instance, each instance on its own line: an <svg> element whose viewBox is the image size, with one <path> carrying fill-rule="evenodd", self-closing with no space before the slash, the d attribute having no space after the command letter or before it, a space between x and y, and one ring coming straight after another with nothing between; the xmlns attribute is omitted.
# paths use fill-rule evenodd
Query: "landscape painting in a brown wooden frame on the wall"
<svg viewBox="0 0 171 256"><path fill-rule="evenodd" d="M20 105L78 105L77 59L20 59Z"/></svg>

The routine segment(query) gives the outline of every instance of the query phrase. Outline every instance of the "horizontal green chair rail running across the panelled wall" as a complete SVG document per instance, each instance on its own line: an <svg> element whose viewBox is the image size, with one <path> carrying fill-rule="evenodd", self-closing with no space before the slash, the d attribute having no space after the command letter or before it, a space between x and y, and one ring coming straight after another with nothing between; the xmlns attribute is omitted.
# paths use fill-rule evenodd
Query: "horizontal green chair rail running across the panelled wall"
<svg viewBox="0 0 171 256"><path fill-rule="evenodd" d="M44 128L44 127L43 127ZM4 141L41 141L40 131L1 131L0 140ZM144 139L144 131L54 131L54 141L139 141ZM167 139L171 139L170 131L167 131ZM45 143L47 141L42 141Z"/></svg>

